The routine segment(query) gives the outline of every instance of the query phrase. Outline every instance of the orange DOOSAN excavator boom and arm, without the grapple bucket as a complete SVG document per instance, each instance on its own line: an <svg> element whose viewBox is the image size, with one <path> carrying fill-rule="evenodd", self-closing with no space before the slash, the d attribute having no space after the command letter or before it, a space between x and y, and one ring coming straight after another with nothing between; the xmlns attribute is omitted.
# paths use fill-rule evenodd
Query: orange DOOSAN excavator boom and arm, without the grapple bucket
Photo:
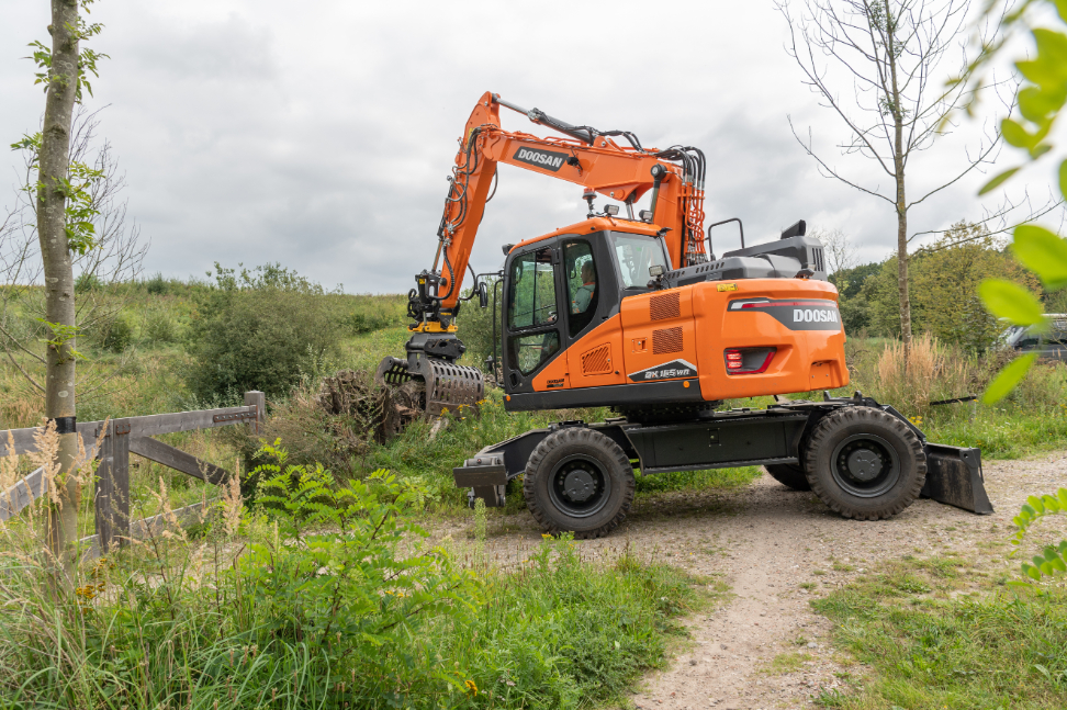
<svg viewBox="0 0 1067 710"><path fill-rule="evenodd" d="M541 138L504 131L501 106L568 137ZM613 139L616 136L625 137L630 145L618 145ZM661 227L672 263L684 267L707 260L703 240L705 168L699 150L645 149L631 133L572 126L486 92L460 138L433 269L416 277L419 288L412 294L411 315L418 323L413 331L454 330L464 271L501 162L582 185L587 199L599 193L622 202L631 218L632 205L651 190L652 209L642 212L642 221ZM592 207L592 200L589 204Z"/></svg>

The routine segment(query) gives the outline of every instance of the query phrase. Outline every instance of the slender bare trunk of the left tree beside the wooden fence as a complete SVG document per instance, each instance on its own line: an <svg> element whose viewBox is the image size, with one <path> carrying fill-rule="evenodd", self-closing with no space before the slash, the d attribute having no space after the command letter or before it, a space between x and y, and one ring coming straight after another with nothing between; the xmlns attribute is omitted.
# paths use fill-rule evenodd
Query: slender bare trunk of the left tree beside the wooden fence
<svg viewBox="0 0 1067 710"><path fill-rule="evenodd" d="M74 269L66 233L66 196L58 189L67 176L70 150L70 123L78 90L77 0L52 0L52 68L42 132L37 189L37 236L44 262L45 312L49 323L75 326ZM53 340L60 334L53 333ZM60 431L69 429L76 416L74 340L59 348L46 347L47 380L45 416L56 419ZM57 452L59 500L49 501L44 538L54 560L61 563L63 584L72 581L74 550L77 539L80 483L74 475L78 436L63 433Z"/></svg>

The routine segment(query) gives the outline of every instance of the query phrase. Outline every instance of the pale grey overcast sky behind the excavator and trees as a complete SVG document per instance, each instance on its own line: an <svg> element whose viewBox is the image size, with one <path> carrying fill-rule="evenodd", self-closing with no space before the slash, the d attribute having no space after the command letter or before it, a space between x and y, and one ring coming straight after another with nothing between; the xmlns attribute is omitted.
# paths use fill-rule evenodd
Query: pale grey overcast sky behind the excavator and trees
<svg viewBox="0 0 1067 710"><path fill-rule="evenodd" d="M40 124L44 99L23 57L48 38L48 5L0 0L2 145ZM91 19L105 25L92 46L110 59L87 103L108 106L100 135L151 240L147 273L277 261L352 293L406 291L433 260L456 139L486 90L570 123L633 131L645 146L701 147L708 223L741 217L750 244L805 218L844 230L863 260L895 246L891 207L821 178L793 138L787 115L851 177L889 185L869 161L833 149L841 124L801 84L771 0L98 0ZM547 132L502 117L505 128ZM914 189L948 177L980 129L965 125L918 157ZM1004 151L1003 167L1015 161ZM19 164L0 151L0 205L12 202ZM980 218L985 179L918 207L913 230ZM1047 194L1048 176L1026 180L1013 192ZM497 268L503 244L584 218L581 193L503 166L474 268ZM723 232L716 250L735 239Z"/></svg>

